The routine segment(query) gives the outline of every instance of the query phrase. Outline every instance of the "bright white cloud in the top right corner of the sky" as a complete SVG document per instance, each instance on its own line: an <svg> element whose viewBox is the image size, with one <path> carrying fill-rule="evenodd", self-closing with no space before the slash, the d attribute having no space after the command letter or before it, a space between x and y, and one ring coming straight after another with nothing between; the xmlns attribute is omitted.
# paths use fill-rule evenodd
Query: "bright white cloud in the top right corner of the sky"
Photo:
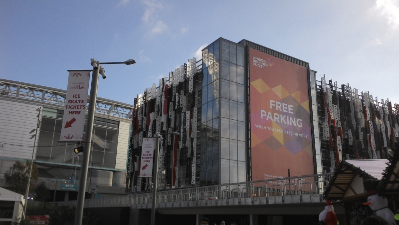
<svg viewBox="0 0 399 225"><path fill-rule="evenodd" d="M373 9L380 12L387 18L387 23L391 28L399 27L399 1L397 0L377 0Z"/></svg>

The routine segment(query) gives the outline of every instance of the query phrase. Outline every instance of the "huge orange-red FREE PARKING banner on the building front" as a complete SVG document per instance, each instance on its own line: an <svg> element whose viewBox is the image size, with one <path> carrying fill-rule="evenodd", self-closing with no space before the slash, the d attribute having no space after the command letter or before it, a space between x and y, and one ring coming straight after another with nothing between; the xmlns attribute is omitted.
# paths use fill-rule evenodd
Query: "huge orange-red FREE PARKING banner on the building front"
<svg viewBox="0 0 399 225"><path fill-rule="evenodd" d="M308 72L249 48L252 179L314 174Z"/></svg>

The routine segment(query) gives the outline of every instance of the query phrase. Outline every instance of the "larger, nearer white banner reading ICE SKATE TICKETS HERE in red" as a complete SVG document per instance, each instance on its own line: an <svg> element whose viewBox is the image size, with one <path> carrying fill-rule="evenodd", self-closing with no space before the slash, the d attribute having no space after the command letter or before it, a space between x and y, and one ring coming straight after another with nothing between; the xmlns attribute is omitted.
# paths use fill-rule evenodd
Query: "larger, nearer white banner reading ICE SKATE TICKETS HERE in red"
<svg viewBox="0 0 399 225"><path fill-rule="evenodd" d="M82 141L91 70L68 70L64 119L59 142Z"/></svg>

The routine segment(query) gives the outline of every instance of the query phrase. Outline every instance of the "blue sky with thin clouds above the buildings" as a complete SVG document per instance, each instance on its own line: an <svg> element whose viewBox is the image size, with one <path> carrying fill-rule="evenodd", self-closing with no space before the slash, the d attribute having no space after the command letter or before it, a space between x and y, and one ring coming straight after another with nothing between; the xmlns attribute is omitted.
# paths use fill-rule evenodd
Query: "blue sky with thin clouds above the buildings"
<svg viewBox="0 0 399 225"><path fill-rule="evenodd" d="M65 90L103 65L98 96L128 104L218 37L310 63L317 79L399 104L398 0L0 0L0 77Z"/></svg>

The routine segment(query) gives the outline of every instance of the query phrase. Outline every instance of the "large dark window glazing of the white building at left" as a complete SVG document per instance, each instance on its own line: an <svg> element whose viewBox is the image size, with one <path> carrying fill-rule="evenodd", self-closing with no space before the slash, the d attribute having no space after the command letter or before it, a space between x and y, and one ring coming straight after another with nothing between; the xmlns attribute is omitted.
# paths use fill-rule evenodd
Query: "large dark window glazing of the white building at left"
<svg viewBox="0 0 399 225"><path fill-rule="evenodd" d="M62 110L43 109L36 160L80 165L82 157L78 158L73 153L75 142L58 142L62 117ZM90 164L94 163L96 167L115 168L118 128L118 121L95 117ZM84 130L86 130L86 126Z"/></svg>

